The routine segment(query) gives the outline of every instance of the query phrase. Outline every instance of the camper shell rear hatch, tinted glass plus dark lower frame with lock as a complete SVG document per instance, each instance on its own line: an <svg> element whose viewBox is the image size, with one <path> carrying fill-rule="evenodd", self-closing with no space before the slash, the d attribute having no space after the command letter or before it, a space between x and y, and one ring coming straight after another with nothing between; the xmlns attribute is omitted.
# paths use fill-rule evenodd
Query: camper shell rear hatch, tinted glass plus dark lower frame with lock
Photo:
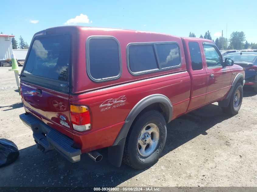
<svg viewBox="0 0 257 192"><path fill-rule="evenodd" d="M21 79L60 92L70 92L71 36L42 35L31 43Z"/></svg>

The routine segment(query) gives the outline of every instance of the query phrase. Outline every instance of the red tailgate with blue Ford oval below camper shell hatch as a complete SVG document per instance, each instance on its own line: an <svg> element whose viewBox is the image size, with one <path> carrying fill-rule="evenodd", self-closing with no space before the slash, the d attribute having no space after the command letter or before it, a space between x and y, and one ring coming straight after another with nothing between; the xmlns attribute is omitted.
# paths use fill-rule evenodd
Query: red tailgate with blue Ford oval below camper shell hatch
<svg viewBox="0 0 257 192"><path fill-rule="evenodd" d="M21 83L21 94L26 112L72 138L68 94L28 83Z"/></svg>

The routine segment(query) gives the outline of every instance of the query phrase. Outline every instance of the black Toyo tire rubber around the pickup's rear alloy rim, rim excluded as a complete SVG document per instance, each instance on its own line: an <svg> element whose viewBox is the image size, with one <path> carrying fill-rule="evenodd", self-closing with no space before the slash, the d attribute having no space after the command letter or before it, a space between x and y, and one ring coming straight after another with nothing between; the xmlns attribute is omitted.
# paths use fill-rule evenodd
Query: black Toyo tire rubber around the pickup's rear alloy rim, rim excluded
<svg viewBox="0 0 257 192"><path fill-rule="evenodd" d="M139 153L138 140L139 136L141 136L141 131L150 123L157 126L159 139L158 142L156 141L158 144L155 149L152 149L153 152L144 157ZM147 129L145 130L147 131ZM152 110L138 116L131 125L127 135L123 153L123 162L137 170L150 166L161 156L161 152L166 142L166 137L167 124L160 112Z"/></svg>

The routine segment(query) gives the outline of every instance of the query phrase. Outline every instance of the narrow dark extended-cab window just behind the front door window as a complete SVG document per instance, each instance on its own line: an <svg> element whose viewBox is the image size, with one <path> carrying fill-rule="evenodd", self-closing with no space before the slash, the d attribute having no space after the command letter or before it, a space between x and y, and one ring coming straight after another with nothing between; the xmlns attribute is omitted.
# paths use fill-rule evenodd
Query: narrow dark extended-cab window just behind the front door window
<svg viewBox="0 0 257 192"><path fill-rule="evenodd" d="M188 46L193 71L203 69L203 62L199 44L197 42L189 42Z"/></svg>

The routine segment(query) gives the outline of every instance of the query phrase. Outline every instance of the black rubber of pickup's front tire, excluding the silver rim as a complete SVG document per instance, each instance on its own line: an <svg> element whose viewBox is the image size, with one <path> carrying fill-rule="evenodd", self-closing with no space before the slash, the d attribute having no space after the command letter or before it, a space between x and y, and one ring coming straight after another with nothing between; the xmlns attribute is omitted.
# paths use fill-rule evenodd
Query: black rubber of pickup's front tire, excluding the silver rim
<svg viewBox="0 0 257 192"><path fill-rule="evenodd" d="M238 106L234 106L234 99L235 99L235 94L236 92L239 90L239 93L240 93L240 97L239 97L239 103L238 103ZM234 87L234 90L231 94L231 98L230 98L230 102L228 104L227 107L222 107L222 111L224 113L227 113L228 115L235 115L238 113L240 107L241 107L241 104L242 104L242 101L243 101L243 87L241 85L241 83L237 83Z"/></svg>

